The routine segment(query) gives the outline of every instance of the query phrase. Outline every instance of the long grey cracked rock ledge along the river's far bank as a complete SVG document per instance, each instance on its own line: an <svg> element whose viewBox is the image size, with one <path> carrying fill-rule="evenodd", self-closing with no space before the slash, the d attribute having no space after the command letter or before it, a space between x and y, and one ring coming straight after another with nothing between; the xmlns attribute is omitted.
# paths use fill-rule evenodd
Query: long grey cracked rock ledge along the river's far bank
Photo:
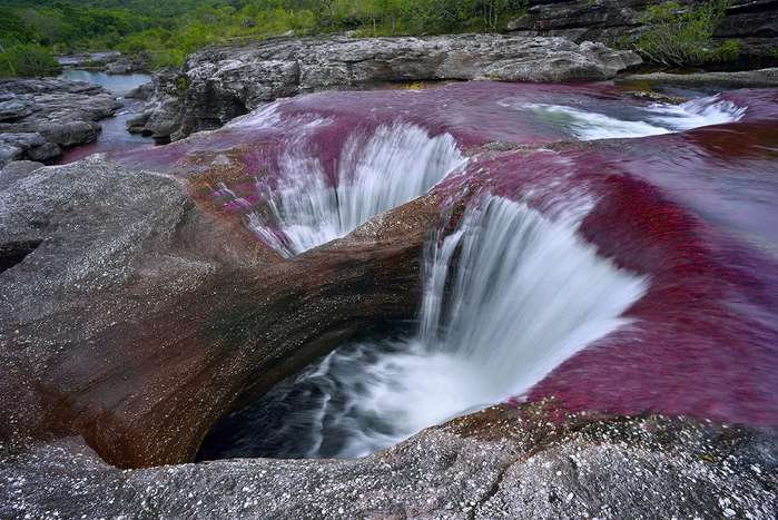
<svg viewBox="0 0 778 520"><path fill-rule="evenodd" d="M155 77L155 95L128 127L177 140L298 94L429 80L597 81L639 62L600 43L499 35L226 43L189 56L177 73Z"/></svg>

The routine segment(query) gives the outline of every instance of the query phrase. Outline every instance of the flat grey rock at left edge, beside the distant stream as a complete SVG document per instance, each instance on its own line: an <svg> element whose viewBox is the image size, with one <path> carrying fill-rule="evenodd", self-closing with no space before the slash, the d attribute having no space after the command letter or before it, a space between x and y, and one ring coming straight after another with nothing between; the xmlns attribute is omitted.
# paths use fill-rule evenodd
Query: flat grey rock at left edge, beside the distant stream
<svg viewBox="0 0 778 520"><path fill-rule="evenodd" d="M119 107L111 94L87 81L1 80L0 168L17 159L47 160L95 140L96 121Z"/></svg>

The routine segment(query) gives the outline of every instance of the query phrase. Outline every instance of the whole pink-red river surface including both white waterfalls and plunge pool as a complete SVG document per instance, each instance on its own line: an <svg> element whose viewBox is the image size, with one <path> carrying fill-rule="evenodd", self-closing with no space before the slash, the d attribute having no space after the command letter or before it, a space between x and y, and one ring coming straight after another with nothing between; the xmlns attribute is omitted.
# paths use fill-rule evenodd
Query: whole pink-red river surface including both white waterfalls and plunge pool
<svg viewBox="0 0 778 520"><path fill-rule="evenodd" d="M776 117L771 90L662 105L461 84L279 100L122 156L186 175L284 258L439 200L416 320L226 418L199 458L360 457L551 395L564 413L778 424Z"/></svg>

